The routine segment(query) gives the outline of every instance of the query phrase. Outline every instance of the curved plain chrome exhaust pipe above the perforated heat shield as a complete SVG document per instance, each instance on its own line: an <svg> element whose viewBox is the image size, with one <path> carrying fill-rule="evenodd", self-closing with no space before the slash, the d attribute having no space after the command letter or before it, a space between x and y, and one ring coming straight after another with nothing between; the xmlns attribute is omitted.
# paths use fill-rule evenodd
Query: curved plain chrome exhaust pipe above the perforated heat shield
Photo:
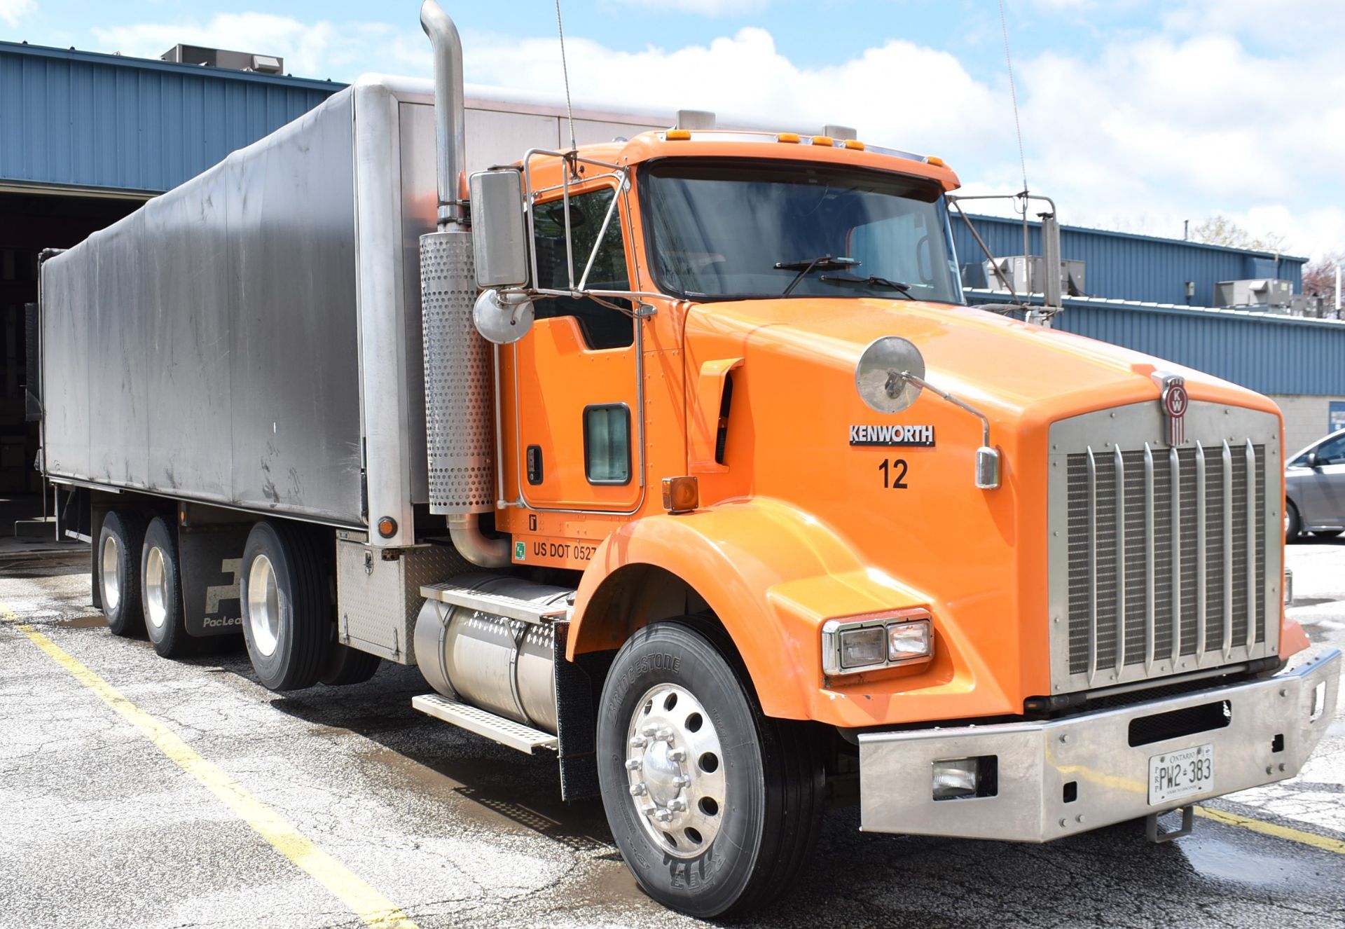
<svg viewBox="0 0 1345 929"><path fill-rule="evenodd" d="M465 225L467 134L463 118L463 40L436 0L421 4L421 28L434 48L434 145L438 159L438 229Z"/></svg>

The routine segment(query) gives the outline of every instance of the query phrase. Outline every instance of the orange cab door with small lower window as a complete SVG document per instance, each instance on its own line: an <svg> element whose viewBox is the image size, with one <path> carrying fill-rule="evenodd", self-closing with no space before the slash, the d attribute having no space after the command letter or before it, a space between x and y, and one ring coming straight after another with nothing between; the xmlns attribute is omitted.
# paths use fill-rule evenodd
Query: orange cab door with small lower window
<svg viewBox="0 0 1345 929"><path fill-rule="evenodd" d="M624 210L612 215L596 253L615 187L570 194L574 281L593 265L586 289L629 290ZM624 204L619 204L624 206ZM565 212L560 198L534 211L537 281L569 288ZM643 495L639 339L633 304L623 298L541 297L535 323L514 346L519 496L533 510L623 512Z"/></svg>

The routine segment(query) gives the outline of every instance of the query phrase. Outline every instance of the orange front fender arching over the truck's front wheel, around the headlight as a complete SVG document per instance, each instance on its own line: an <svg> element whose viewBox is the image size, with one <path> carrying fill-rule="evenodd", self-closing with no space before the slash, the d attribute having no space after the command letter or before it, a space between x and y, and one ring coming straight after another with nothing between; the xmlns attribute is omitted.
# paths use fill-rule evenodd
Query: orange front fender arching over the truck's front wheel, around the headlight
<svg viewBox="0 0 1345 929"><path fill-rule="evenodd" d="M615 590L623 586L620 571L642 565L671 573L709 605L769 717L873 726L1005 711L994 678L925 592L861 563L815 516L760 497L648 516L609 535L580 583L568 657L615 648L643 625L639 616L619 616L623 596ZM935 617L933 661L898 676L827 686L826 620L912 606Z"/></svg>

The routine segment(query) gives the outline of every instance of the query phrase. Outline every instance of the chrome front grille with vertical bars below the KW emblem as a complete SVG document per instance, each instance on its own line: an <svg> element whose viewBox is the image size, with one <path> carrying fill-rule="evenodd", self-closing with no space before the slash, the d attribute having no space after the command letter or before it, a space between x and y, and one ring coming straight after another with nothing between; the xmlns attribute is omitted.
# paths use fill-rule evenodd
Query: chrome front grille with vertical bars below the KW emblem
<svg viewBox="0 0 1345 929"><path fill-rule="evenodd" d="M1276 508L1266 499L1280 473L1275 418L1202 410L1189 421L1193 438L1169 448L1149 406L1076 417L1102 426L1096 434L1075 419L1052 428L1052 476L1064 472L1052 493L1057 691L1259 657L1271 651L1267 637L1278 648L1267 577L1274 586L1280 550L1274 534L1267 549ZM1205 419L1224 429L1190 428ZM1240 429L1229 434L1229 425Z"/></svg>

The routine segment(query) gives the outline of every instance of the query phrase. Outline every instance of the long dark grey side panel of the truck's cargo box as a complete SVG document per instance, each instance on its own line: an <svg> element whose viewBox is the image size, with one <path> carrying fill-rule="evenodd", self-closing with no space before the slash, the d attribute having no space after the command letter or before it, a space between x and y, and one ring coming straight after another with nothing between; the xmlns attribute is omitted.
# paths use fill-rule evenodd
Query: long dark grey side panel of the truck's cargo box
<svg viewBox="0 0 1345 929"><path fill-rule="evenodd" d="M47 472L359 524L348 94L43 266Z"/></svg>

